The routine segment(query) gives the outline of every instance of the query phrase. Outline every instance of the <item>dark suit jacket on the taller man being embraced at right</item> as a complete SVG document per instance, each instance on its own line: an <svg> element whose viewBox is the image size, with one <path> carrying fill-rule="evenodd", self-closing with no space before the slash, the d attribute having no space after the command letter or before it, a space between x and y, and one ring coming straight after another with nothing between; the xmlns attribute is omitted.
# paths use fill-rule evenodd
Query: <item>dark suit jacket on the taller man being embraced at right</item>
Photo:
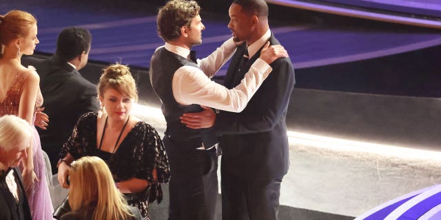
<svg viewBox="0 0 441 220"><path fill-rule="evenodd" d="M271 45L280 43L271 34ZM260 56L260 50L242 67L246 69ZM232 88L243 78L236 69L243 57L245 43L238 47L225 76L225 87ZM240 113L221 111L214 124L223 151L223 166L240 177L271 179L283 177L289 166L285 118L294 88L294 69L289 58L271 63L271 74Z"/></svg>

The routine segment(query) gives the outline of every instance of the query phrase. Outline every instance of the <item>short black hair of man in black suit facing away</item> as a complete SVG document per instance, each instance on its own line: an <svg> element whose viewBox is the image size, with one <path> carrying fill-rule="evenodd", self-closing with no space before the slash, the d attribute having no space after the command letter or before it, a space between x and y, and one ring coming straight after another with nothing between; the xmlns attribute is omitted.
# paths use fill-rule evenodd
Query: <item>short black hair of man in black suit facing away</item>
<svg viewBox="0 0 441 220"><path fill-rule="evenodd" d="M55 54L63 61L72 61L83 52L88 53L92 43L92 34L79 27L65 28L58 35Z"/></svg>

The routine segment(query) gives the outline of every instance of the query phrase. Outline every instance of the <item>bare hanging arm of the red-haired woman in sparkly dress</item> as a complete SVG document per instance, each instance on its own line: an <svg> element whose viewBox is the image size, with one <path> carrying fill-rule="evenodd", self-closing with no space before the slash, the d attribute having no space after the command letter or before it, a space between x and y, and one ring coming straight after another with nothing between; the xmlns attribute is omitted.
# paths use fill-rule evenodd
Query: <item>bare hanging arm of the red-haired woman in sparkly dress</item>
<svg viewBox="0 0 441 220"><path fill-rule="evenodd" d="M36 72L30 72L26 76L23 84L23 90L21 91L20 103L19 103L19 117L26 120L31 126L33 125L33 117L35 110L35 101L37 100L37 93L39 89L40 78ZM26 150L28 157L23 159L23 183L26 188L26 192L32 190L34 181L38 181L37 175L34 173L34 160L32 153L32 144Z"/></svg>

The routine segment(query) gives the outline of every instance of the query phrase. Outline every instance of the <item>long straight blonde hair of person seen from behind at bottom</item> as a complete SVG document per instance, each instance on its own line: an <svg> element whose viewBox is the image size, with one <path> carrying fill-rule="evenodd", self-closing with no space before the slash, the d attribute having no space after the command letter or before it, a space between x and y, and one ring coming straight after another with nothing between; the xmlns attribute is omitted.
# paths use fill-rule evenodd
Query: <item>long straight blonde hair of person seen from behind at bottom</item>
<svg viewBox="0 0 441 220"><path fill-rule="evenodd" d="M115 186L109 167L99 157L81 157L72 163L69 204L73 212L93 207L93 220L130 219L133 216Z"/></svg>

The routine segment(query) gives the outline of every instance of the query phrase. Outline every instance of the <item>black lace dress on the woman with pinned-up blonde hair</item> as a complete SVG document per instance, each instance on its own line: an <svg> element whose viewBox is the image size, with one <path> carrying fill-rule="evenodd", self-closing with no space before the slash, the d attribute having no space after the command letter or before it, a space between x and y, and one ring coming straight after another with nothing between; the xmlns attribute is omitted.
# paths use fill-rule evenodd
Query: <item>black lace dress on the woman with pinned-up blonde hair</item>
<svg viewBox="0 0 441 220"><path fill-rule="evenodd" d="M96 155L97 117L98 112L85 113L81 116L68 142L61 148L59 158L64 158L68 153L74 159ZM158 183L167 183L170 180L170 168L164 144L156 130L150 124L137 122L121 141L119 148L110 157L102 159L109 165L116 182L136 177L153 183L148 197L128 195L131 199L127 199L130 206L139 208L143 217L148 219L149 201L156 199L159 203L162 200L162 189ZM158 174L157 182L154 182L152 175L155 167Z"/></svg>

